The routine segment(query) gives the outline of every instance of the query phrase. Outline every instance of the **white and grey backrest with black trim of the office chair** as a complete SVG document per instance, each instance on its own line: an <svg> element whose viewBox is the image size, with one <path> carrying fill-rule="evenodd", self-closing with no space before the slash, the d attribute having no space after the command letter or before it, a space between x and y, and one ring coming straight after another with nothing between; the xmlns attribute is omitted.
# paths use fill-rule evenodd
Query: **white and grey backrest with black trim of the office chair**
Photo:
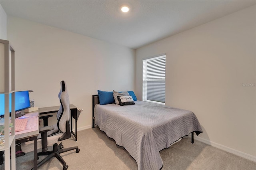
<svg viewBox="0 0 256 170"><path fill-rule="evenodd" d="M60 93L58 97L60 99L60 109L57 113L57 126L60 132L66 133L66 122L70 121L70 105L65 81L60 82Z"/></svg>

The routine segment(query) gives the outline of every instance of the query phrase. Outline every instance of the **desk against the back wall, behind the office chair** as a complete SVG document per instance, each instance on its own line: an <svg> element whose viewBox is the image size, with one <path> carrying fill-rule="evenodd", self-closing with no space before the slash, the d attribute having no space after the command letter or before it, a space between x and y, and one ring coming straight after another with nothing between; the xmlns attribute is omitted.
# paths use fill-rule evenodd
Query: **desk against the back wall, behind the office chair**
<svg viewBox="0 0 256 170"><path fill-rule="evenodd" d="M38 112L40 115L44 115L48 113L58 113L59 109L60 109L60 106L42 107L42 108L39 108ZM75 139L77 140L77 119L78 119L77 107L74 105L70 105L70 112L71 112L71 121L70 121L71 133L74 135ZM76 133L73 132L72 118L74 118L76 121L76 130L75 130Z"/></svg>

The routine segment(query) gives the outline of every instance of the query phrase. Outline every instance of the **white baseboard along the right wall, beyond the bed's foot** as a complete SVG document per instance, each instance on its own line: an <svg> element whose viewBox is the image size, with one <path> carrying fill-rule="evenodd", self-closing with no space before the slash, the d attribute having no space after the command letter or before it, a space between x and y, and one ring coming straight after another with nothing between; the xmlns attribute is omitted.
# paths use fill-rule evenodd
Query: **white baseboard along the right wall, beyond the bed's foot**
<svg viewBox="0 0 256 170"><path fill-rule="evenodd" d="M189 137L191 138L191 134L189 135ZM240 156L240 157L242 157L242 158L246 158L246 159L248 159L248 160L251 160L251 161L253 161L253 162L256 162L256 156L252 156L252 155L250 155L250 154L246 154L246 153L244 153L244 152L241 152L241 151L239 151L239 150L235 150L235 149L229 148L229 147L224 146L224 145L222 145L222 144L218 144L218 143L215 143L215 142L211 142L210 140L207 140L207 139L204 139L204 138L200 138L200 137L198 137L198 136L196 136L196 135L194 135L194 139L195 139L195 140L198 140L198 141L200 141L200 142L203 142L203 143L205 143L205 144L208 144L208 145L210 145L210 146L213 146L213 147L215 147L215 148L219 148L219 149L224 150L224 151L226 151L226 152L229 152L229 153L235 154L235 155L237 155L237 156Z"/></svg>

